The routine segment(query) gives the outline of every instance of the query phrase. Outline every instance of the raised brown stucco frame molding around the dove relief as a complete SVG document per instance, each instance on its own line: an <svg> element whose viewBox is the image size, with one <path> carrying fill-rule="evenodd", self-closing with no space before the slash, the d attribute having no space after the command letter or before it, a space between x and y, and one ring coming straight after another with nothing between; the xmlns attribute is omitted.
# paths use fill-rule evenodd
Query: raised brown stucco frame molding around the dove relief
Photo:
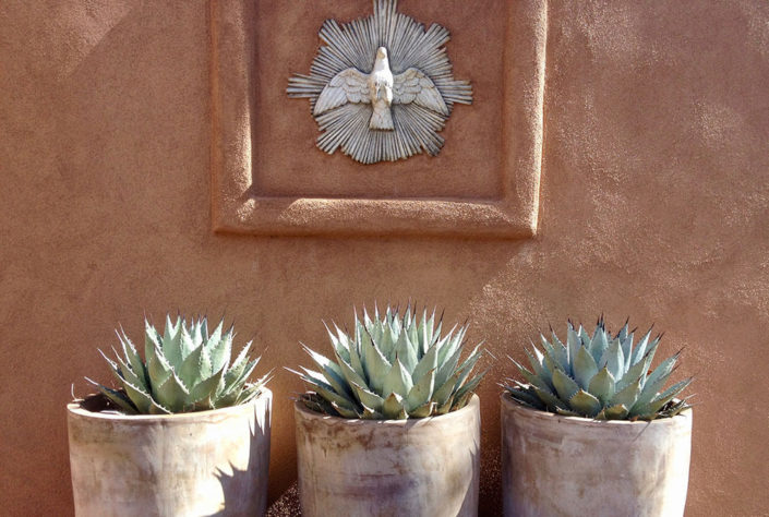
<svg viewBox="0 0 769 517"><path fill-rule="evenodd" d="M264 196L252 191L247 0L209 0L212 225L263 236L528 238L537 232L543 143L546 0L508 2L501 192L493 199ZM514 44L515 43L515 44ZM470 77L471 79L471 77ZM320 152L319 152L320 153Z"/></svg>

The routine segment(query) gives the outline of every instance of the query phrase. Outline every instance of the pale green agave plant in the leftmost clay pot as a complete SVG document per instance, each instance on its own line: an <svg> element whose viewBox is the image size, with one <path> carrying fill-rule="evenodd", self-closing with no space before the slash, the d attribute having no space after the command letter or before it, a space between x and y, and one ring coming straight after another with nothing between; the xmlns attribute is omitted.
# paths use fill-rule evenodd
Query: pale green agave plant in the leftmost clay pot
<svg viewBox="0 0 769 517"><path fill-rule="evenodd" d="M177 316L172 323L167 315L160 335L145 320L144 361L121 328L116 334L123 357L115 349L115 360L99 352L122 389L86 380L129 414L202 411L245 404L260 394L267 375L248 383L261 359L248 357L251 341L230 364L235 334L232 327L223 334L223 325L224 320L209 335L206 317L188 323Z"/></svg>

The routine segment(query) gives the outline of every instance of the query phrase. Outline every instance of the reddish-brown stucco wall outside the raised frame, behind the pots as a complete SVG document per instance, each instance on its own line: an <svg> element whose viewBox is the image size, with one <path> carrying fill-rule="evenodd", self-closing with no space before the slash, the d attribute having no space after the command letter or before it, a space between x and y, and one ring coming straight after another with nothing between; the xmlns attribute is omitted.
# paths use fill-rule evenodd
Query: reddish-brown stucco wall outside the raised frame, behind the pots
<svg viewBox="0 0 769 517"><path fill-rule="evenodd" d="M327 346L321 318L412 297L498 358L567 316L654 322L697 375L688 515L766 515L769 4L548 14L534 239L257 238L211 231L206 1L0 2L0 513L72 512L64 405L118 323L226 312L279 368ZM480 390L488 512L507 373ZM272 388L275 497L302 386Z"/></svg>

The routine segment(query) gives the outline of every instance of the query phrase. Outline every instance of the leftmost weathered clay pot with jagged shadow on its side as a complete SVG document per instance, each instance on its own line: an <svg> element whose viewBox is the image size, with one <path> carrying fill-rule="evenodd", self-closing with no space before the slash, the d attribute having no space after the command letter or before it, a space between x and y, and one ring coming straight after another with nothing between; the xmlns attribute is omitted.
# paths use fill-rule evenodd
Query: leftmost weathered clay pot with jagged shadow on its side
<svg viewBox="0 0 769 517"><path fill-rule="evenodd" d="M272 393L213 411L167 416L68 406L77 516L263 515Z"/></svg>

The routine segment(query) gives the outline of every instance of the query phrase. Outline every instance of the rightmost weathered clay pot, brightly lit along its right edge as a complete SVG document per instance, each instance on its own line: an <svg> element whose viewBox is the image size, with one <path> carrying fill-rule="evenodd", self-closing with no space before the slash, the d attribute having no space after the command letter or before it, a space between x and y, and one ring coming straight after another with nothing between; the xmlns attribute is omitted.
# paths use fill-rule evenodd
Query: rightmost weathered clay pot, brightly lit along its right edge
<svg viewBox="0 0 769 517"><path fill-rule="evenodd" d="M692 410L652 422L599 422L502 395L507 516L684 515Z"/></svg>

